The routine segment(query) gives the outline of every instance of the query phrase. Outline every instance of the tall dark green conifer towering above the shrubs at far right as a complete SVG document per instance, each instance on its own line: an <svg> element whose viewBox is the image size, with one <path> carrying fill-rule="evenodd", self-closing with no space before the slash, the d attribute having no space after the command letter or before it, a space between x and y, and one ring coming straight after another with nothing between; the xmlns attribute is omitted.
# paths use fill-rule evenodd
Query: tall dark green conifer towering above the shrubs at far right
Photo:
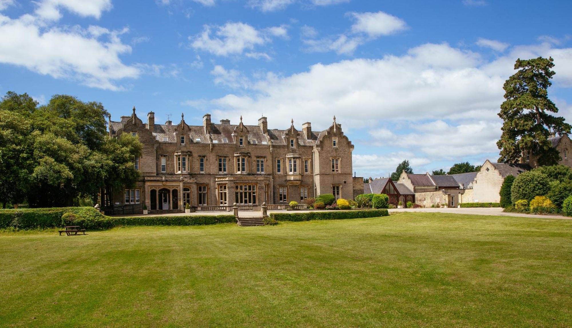
<svg viewBox="0 0 572 328"><path fill-rule="evenodd" d="M514 69L518 71L503 86L506 100L498 114L504 121L496 143L501 150L499 162L517 162L523 151L537 156L539 165L554 165L561 159L549 138L551 133L570 133L570 125L550 114L558 113L547 92L553 67L551 57L517 59Z"/></svg>

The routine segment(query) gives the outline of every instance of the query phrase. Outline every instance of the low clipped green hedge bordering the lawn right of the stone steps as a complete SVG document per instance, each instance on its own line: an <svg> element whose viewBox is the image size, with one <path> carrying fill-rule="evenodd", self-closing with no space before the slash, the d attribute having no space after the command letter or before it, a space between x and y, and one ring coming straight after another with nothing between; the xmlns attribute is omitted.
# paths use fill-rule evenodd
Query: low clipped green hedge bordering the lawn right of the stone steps
<svg viewBox="0 0 572 328"><path fill-rule="evenodd" d="M338 220L376 218L390 215L386 209L380 210L352 210L352 211L311 211L308 213L270 213L276 221L310 221L310 220Z"/></svg>

